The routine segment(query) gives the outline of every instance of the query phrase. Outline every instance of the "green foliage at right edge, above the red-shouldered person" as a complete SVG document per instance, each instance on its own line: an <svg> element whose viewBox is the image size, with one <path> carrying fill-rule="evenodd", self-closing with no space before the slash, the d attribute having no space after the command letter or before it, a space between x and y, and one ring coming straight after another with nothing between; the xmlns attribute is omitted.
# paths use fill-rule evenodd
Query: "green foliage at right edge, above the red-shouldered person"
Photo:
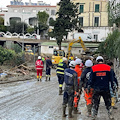
<svg viewBox="0 0 120 120"><path fill-rule="evenodd" d="M106 55L108 58L117 58L120 48L120 32L118 30L113 31L107 37L107 39L99 45L99 52Z"/></svg>

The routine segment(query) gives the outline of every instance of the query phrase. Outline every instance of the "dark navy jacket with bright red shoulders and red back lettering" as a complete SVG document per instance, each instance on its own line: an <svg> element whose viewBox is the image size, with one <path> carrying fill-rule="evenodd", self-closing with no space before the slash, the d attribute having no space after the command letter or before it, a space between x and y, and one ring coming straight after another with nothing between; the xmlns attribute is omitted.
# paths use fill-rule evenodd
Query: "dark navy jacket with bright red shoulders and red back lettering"
<svg viewBox="0 0 120 120"><path fill-rule="evenodd" d="M109 90L109 83L111 83L111 87L113 88L113 80L110 66L100 63L92 67L88 85L97 91L107 91Z"/></svg>

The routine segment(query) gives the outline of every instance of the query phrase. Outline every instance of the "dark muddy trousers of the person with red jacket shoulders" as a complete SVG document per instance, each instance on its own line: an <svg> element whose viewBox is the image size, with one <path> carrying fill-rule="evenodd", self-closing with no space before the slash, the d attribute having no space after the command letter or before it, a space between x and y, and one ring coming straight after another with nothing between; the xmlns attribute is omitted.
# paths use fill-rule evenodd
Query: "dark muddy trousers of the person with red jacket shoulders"
<svg viewBox="0 0 120 120"><path fill-rule="evenodd" d="M92 107L92 116L96 116L98 113L98 108L99 108L99 104L100 104L100 98L101 96L104 99L105 102L105 106L106 109L109 110L111 109L111 96L110 96L110 91L96 91L94 90L93 92L93 99L92 99L92 103L93 103L93 107Z"/></svg>

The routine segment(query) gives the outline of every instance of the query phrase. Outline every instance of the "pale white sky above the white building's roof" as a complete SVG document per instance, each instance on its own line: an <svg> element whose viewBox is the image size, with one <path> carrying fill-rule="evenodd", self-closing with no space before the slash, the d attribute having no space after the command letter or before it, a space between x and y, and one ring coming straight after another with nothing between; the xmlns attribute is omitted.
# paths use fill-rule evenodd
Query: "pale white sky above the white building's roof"
<svg viewBox="0 0 120 120"><path fill-rule="evenodd" d="M0 8L5 8L7 5L10 5L11 0L0 0ZM37 1L43 1L47 4L56 5L60 0L31 0L33 3L37 3ZM29 2L29 0L22 0L22 2Z"/></svg>

